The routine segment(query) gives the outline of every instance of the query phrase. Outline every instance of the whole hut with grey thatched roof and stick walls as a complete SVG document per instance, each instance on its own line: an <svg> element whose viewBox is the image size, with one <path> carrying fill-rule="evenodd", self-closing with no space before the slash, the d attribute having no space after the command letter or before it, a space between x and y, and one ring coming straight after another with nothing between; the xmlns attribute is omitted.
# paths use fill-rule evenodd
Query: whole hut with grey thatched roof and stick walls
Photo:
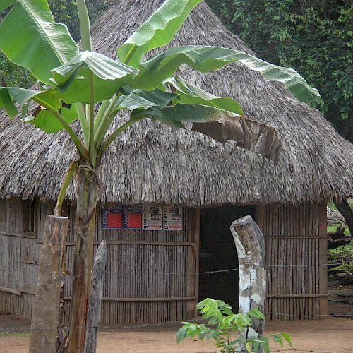
<svg viewBox="0 0 353 353"><path fill-rule="evenodd" d="M92 27L94 49L115 58L116 48L161 3L128 0L109 8ZM253 54L206 4L193 11L174 44L210 44ZM200 280L198 272L199 266L201 272L237 267L229 225L244 214L255 217L266 238L268 317L327 313L325 203L353 195L352 144L316 109L241 64L208 74L183 67L179 75L215 95L233 97L251 119L277 128L282 154L275 165L234 143L222 145L201 133L148 119L116 140L102 160L102 207L181 205L182 225L172 231L104 229L101 208L97 210L97 241L107 239L107 269L112 271L105 279L102 322L191 318L195 301L205 296L236 306L236 271L201 275ZM121 119L126 116L117 117L115 124ZM36 201L33 206L20 199L54 200L76 157L66 133L49 135L1 113L0 249L5 250L0 268L6 269L0 277L2 289L16 280L35 280L35 266L30 266L37 263L44 216L52 212L50 203ZM73 189L68 196L73 199ZM74 205L68 203L66 213L71 220L70 265ZM0 290L0 311L30 316L32 292L26 287L19 298Z"/></svg>

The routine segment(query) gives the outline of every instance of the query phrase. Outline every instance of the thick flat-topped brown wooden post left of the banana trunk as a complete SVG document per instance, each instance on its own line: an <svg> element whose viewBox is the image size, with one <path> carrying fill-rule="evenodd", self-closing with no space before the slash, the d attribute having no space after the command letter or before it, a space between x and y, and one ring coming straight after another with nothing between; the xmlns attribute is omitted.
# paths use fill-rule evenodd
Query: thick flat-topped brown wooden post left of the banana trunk
<svg viewBox="0 0 353 353"><path fill-rule="evenodd" d="M33 302L30 353L56 352L61 265L67 231L67 217L47 215Z"/></svg>

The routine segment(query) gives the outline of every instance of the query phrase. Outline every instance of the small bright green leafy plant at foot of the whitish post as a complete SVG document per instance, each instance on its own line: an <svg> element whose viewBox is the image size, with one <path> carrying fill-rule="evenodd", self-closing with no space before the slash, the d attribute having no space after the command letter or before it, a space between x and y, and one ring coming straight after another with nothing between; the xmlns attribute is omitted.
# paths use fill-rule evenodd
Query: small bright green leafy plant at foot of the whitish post
<svg viewBox="0 0 353 353"><path fill-rule="evenodd" d="M252 309L246 316L241 313L233 313L232 307L222 300L206 298L196 305L196 309L201 316L208 320L207 324L197 324L183 322L183 326L177 333L177 342L181 342L187 337L199 340L215 340L215 347L220 348L223 353L239 352L239 347L244 347L247 352L258 353L261 349L265 353L270 352L270 342L268 337L249 338L244 340L237 338L237 333L251 328L251 320L265 320L263 313L257 309ZM271 335L272 339L282 346L283 339L292 347L292 339L288 333L278 333Z"/></svg>

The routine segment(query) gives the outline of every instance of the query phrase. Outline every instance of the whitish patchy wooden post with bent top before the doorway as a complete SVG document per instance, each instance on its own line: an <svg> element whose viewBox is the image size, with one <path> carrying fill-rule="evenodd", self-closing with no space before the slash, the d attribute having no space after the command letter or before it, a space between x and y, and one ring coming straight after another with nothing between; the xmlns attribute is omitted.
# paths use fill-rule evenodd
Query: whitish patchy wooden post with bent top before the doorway
<svg viewBox="0 0 353 353"><path fill-rule="evenodd" d="M251 309L264 313L266 270L263 234L251 216L235 220L230 226L230 231L239 258L239 313L246 315ZM259 338L263 335L264 325L263 320L253 319L252 328L239 333L239 337ZM245 347L241 349L246 352Z"/></svg>

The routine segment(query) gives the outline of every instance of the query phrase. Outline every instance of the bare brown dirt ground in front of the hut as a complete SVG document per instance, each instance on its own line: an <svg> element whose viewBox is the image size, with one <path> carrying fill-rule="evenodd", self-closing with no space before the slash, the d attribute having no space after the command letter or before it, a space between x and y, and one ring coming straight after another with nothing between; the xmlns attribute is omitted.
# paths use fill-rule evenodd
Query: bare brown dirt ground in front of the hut
<svg viewBox="0 0 353 353"><path fill-rule="evenodd" d="M352 318L321 318L306 321L267 321L265 335L287 332L294 349L272 344L271 352L353 353L353 286L330 288L329 312ZM343 301L343 302L341 302ZM16 316L0 315L0 353L27 353L30 322ZM146 328L104 329L98 336L97 353L211 353L213 342L185 340L179 345L175 335L177 324ZM4 328L9 334L4 335ZM20 333L19 333L20 332ZM45 353L45 352L43 352Z"/></svg>

